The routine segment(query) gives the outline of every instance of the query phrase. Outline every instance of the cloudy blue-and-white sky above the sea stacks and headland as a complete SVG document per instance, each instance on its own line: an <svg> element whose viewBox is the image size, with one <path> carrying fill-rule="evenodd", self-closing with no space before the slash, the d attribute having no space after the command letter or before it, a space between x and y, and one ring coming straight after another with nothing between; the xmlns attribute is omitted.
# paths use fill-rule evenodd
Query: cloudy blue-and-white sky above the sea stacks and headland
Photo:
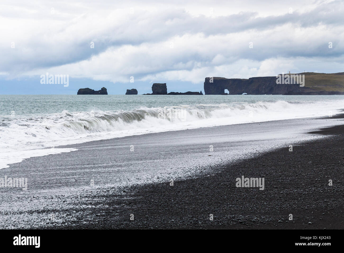
<svg viewBox="0 0 344 253"><path fill-rule="evenodd" d="M121 2L1 0L0 94L203 91L208 76L344 72L343 1ZM41 84L46 72L69 86Z"/></svg>

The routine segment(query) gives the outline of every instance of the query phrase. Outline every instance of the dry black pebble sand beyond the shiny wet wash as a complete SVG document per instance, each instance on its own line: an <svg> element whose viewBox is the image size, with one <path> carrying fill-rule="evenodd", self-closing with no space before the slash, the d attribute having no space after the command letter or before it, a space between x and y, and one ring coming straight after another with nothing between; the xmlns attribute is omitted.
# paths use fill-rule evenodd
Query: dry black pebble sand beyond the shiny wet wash
<svg viewBox="0 0 344 253"><path fill-rule="evenodd" d="M174 181L173 187L166 182L87 199L98 208L63 228L343 229L344 126L316 133L334 136ZM241 175L265 177L265 190L236 188Z"/></svg>

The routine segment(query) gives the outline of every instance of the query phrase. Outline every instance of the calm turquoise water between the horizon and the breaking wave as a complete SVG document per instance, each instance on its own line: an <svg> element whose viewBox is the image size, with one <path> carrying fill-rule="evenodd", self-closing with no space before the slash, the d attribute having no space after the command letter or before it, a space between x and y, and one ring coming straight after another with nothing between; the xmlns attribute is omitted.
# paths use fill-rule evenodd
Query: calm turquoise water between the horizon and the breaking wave
<svg viewBox="0 0 344 253"><path fill-rule="evenodd" d="M256 102L342 102L344 96L283 95L0 95L0 117L45 115L91 110L133 110L178 105L231 104ZM344 105L343 105L344 107Z"/></svg>

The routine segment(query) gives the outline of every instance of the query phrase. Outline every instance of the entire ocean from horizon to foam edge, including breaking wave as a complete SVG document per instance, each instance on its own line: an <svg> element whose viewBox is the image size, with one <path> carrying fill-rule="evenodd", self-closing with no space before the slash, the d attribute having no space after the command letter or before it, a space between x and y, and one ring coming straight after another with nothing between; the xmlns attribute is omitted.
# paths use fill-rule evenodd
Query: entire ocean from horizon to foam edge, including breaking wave
<svg viewBox="0 0 344 253"><path fill-rule="evenodd" d="M0 169L93 140L335 115L344 96L0 95Z"/></svg>

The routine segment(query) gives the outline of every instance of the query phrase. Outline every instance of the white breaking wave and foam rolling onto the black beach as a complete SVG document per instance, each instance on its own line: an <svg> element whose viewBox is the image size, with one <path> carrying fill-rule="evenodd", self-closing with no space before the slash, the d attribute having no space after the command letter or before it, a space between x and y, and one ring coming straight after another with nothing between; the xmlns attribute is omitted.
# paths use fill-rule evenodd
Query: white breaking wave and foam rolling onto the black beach
<svg viewBox="0 0 344 253"><path fill-rule="evenodd" d="M115 137L200 127L264 122L336 114L343 101L233 102L130 111L67 112L6 118L0 125L0 168L34 156L70 152L47 149Z"/></svg>

